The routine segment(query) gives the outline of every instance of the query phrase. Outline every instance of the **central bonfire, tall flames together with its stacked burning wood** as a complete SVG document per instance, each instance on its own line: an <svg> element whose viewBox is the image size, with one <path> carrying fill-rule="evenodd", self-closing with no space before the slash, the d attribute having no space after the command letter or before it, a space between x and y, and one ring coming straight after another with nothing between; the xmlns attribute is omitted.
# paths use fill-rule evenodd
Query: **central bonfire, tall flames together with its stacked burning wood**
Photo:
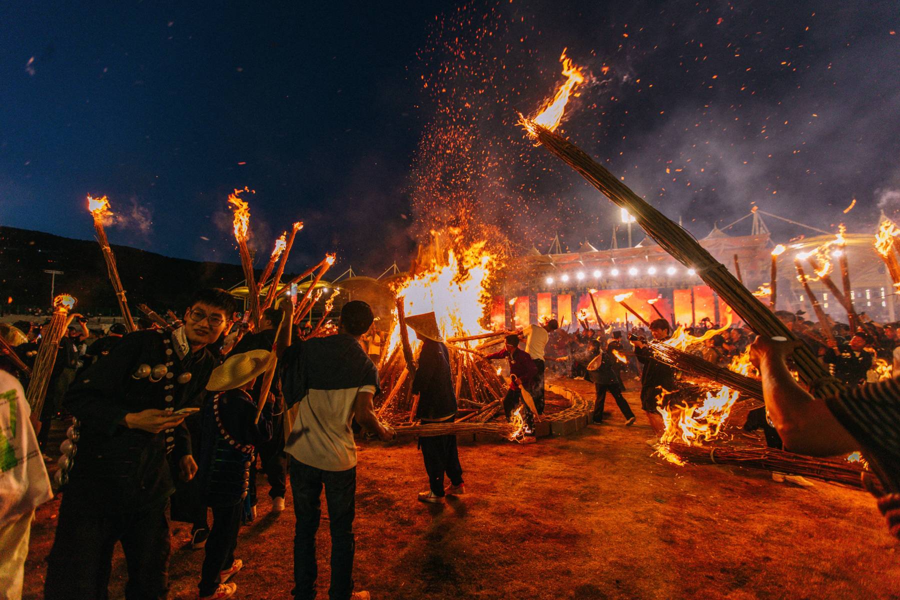
<svg viewBox="0 0 900 600"><path fill-rule="evenodd" d="M436 234L439 236L440 234ZM384 359L379 367L382 389L390 390L384 397L379 414L389 408L399 417L392 420L409 420L412 412L410 397L412 379L415 374L418 341L403 342L408 336L406 327L401 327L401 318L434 312L437 328L448 343L450 367L455 382L455 392L461 404L470 407L491 407L490 418L496 414L503 398L504 384L490 363L475 354L472 342L500 337L503 332L488 332L481 322L484 306L490 300L488 284L491 273L496 269L498 257L485 249L485 242L464 246L454 240L455 247L437 251L436 243L429 250L432 256L419 260L418 270L410 277L397 283L393 292L398 299L394 323L388 337ZM407 416L407 412L410 415ZM484 416L484 414L481 414ZM485 418L485 420L487 420ZM479 415L467 416L478 422Z"/></svg>

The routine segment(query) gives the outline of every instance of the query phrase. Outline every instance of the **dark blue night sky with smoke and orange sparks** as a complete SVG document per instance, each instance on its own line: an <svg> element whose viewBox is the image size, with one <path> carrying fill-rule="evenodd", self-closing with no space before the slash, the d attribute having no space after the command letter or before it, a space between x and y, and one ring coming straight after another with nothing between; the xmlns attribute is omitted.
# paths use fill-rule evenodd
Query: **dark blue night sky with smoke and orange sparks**
<svg viewBox="0 0 900 600"><path fill-rule="evenodd" d="M338 272L377 276L442 225L605 248L611 203L515 124L561 83L567 48L591 77L563 132L696 236L752 203L869 230L900 208L898 15L900 2L6 2L0 224L90 238L85 194L107 194L113 243L236 263L226 199L247 185L263 255L306 223L295 270L335 250ZM778 241L802 232L767 222Z"/></svg>

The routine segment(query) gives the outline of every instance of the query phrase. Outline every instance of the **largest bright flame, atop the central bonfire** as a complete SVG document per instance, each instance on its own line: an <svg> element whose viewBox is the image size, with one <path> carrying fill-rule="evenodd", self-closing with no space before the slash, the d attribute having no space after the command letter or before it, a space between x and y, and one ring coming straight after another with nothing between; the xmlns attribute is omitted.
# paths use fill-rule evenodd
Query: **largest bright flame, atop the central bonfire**
<svg viewBox="0 0 900 600"><path fill-rule="evenodd" d="M462 249L451 248L431 259L430 264L419 264L414 277L394 288L394 293L403 298L405 314L434 311L437 328L445 338L488 333L481 321L484 307L490 305L488 285L498 257L487 251L486 245L486 241L480 241ZM399 344L400 327L395 326L388 355Z"/></svg>

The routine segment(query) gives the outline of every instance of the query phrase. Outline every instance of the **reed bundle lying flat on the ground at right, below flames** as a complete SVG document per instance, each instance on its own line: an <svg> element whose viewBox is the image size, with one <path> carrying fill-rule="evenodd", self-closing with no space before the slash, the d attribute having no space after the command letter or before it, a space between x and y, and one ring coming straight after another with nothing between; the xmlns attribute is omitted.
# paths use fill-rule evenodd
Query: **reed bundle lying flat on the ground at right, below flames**
<svg viewBox="0 0 900 600"><path fill-rule="evenodd" d="M662 454L674 454L694 464L729 464L747 469L773 470L862 487L863 469L859 463L820 459L775 448L710 448L669 443L661 446Z"/></svg>

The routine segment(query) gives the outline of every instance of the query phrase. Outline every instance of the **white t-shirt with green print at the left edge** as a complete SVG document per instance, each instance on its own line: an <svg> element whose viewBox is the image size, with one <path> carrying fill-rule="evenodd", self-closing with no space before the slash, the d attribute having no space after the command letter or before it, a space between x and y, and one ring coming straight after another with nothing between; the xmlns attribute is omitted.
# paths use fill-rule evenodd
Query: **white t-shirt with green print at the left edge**
<svg viewBox="0 0 900 600"><path fill-rule="evenodd" d="M22 384L0 371L0 525L53 497Z"/></svg>

